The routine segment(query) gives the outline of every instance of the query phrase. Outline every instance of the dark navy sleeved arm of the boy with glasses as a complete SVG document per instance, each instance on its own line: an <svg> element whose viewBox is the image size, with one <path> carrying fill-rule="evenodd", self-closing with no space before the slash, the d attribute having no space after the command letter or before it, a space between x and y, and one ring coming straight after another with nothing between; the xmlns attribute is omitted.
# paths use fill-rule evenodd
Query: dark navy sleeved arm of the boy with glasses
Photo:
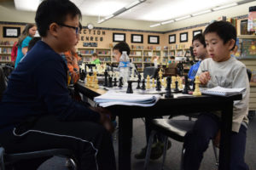
<svg viewBox="0 0 256 170"><path fill-rule="evenodd" d="M91 111L70 98L67 90L67 72L64 61L48 60L34 72L38 99L42 100L49 114L63 121L100 122L100 114Z"/></svg>

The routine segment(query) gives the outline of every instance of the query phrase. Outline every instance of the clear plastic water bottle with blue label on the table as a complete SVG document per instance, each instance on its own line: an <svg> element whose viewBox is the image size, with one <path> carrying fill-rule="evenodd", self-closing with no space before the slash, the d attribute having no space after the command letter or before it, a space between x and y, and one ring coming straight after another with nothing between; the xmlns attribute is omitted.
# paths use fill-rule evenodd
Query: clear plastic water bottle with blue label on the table
<svg viewBox="0 0 256 170"><path fill-rule="evenodd" d="M126 51L123 51L120 57L119 72L120 72L120 77L123 77L123 81L125 84L130 77L130 59Z"/></svg>

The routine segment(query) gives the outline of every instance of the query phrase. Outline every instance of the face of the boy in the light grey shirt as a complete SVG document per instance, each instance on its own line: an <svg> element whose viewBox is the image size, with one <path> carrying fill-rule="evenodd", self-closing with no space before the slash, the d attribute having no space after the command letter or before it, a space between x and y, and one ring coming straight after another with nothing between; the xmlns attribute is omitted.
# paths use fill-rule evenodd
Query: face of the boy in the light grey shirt
<svg viewBox="0 0 256 170"><path fill-rule="evenodd" d="M214 61L222 62L230 59L230 49L233 48L235 40L230 40L224 44L215 32L207 33L205 40L207 52Z"/></svg>

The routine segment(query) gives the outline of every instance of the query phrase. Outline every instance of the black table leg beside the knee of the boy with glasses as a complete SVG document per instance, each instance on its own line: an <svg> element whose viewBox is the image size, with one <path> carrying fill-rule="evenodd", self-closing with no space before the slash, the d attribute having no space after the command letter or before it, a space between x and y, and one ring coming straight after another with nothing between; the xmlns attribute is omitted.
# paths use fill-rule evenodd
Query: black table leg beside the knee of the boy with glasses
<svg viewBox="0 0 256 170"><path fill-rule="evenodd" d="M119 116L119 170L131 170L132 118Z"/></svg>

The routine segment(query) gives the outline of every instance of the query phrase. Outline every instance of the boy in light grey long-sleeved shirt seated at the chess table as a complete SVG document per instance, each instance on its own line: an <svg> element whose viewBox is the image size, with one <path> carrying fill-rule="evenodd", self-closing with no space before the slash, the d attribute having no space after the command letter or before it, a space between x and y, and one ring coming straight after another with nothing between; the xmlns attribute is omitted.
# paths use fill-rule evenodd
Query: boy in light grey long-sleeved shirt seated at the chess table
<svg viewBox="0 0 256 170"><path fill-rule="evenodd" d="M242 93L242 99L234 102L232 132L230 133L230 169L247 170L244 155L250 87L245 65L230 57L230 51L236 45L236 28L229 22L213 22L204 31L204 37L210 58L204 59L197 71L201 84L207 88L217 86L246 88L246 91ZM219 116L218 112L201 114L193 129L185 135L183 144L185 170L200 168L203 153L207 150L210 139L218 136Z"/></svg>

